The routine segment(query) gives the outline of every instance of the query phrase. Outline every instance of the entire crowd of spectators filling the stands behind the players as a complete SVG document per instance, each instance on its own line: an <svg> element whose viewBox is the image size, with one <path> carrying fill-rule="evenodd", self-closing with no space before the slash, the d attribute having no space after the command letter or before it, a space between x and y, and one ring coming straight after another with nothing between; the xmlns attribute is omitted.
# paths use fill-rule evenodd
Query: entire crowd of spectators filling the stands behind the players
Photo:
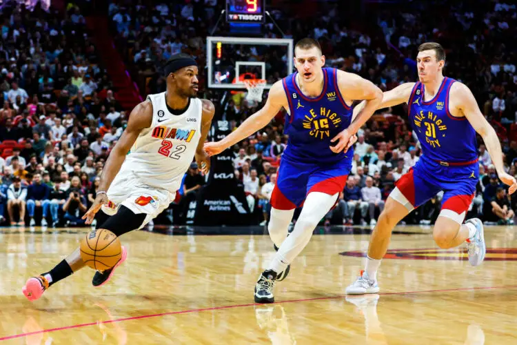
<svg viewBox="0 0 517 345"><path fill-rule="evenodd" d="M357 73L383 90L416 79L414 57L420 43L442 43L447 50L445 74L472 89L501 138L505 169L516 175L517 59L516 48L510 44L516 34L511 25L517 16L515 5L493 0L367 3L358 25L341 15L348 10L346 1L318 3L311 12L316 19L310 21L303 19L307 14L299 6L274 3L280 5L270 12L285 37L318 39L327 66ZM201 67L205 65L205 39L221 10L215 0L119 0L110 3L107 14L118 50L132 78L147 94L165 90L161 68L170 55L187 52ZM26 216L32 223L41 208L45 221L54 223L58 204L57 221L64 213L74 216L67 220L75 223L95 196L95 181L125 128L130 109L121 109L116 103L79 8L68 5L65 13L57 13L52 8L50 12L39 8L28 12L11 6L1 10L0 18L0 88L4 95L0 150L5 159L0 160L0 212L6 211L0 220L9 214L10 222L23 224ZM216 34L228 34L225 23L218 30ZM263 37L281 38L281 34L267 23ZM203 90L205 69L199 71L205 97L222 99L220 94ZM280 77L279 71L267 75L270 82ZM235 128L263 102L243 101L243 95L237 94L216 106L216 116ZM338 207L325 217L328 223L374 224L395 182L418 161L420 146L405 112L403 106L378 111L358 132L352 174ZM234 147L236 179L242 182L248 206L263 222L287 144L283 118L279 113L267 127ZM511 222L516 199L510 199L500 186L479 138L478 144L480 181L469 213L483 214L486 221ZM194 166L191 170L191 174L199 174ZM201 187L199 179L187 180L186 192L196 193ZM72 211L63 207L67 204L72 204ZM439 210L440 195L404 221L430 224Z"/></svg>

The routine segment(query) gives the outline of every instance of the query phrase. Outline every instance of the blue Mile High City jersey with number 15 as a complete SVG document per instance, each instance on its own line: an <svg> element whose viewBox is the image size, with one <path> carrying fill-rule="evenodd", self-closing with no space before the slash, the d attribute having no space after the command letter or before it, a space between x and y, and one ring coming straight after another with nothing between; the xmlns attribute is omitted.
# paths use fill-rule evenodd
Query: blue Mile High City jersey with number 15
<svg viewBox="0 0 517 345"><path fill-rule="evenodd" d="M285 134L289 135L282 159L310 164L334 164L352 161L354 150L338 154L329 148L330 140L350 125L352 108L347 106L338 89L337 70L323 68L321 95L310 98L296 84L296 75L282 80L289 114L285 119Z"/></svg>

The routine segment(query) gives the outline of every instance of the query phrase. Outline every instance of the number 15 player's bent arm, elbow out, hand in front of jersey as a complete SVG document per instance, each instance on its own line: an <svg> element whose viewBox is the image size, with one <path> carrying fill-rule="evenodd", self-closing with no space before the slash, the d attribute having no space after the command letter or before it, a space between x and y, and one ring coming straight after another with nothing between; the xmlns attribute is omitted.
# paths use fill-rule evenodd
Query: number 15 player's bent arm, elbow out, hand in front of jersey
<svg viewBox="0 0 517 345"><path fill-rule="evenodd" d="M356 118L352 119L352 124L350 124L348 128L332 138L331 142L338 141L336 146L329 146L330 150L335 153L339 153L347 148L347 146L350 146L350 139L356 134L359 128L372 117L378 105L383 101L383 92L380 88L375 86L371 81L363 79L353 73L339 70L338 85L339 92L341 92L344 99L363 99L365 100L365 106L361 109Z"/></svg>

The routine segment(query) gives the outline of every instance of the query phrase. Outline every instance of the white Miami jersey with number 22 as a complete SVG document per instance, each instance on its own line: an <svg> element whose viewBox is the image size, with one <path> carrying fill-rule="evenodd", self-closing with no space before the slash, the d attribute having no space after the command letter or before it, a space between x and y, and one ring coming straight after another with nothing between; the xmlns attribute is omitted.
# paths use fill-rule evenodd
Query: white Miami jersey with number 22
<svg viewBox="0 0 517 345"><path fill-rule="evenodd" d="M201 138L203 103L191 98L187 110L174 115L165 103L165 92L148 95L148 99L152 124L142 130L118 175L133 174L145 186L175 193Z"/></svg>

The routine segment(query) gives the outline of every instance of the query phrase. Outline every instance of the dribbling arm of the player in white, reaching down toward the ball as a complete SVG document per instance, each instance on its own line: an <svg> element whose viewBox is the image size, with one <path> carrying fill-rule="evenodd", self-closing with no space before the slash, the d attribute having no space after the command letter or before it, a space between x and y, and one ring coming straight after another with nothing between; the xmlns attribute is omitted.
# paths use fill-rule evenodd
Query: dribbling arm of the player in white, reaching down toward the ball
<svg viewBox="0 0 517 345"><path fill-rule="evenodd" d="M86 224L91 224L95 214L101 209L101 206L108 202L108 197L105 192L110 188L113 179L125 160L125 156L128 154L131 146L133 146L136 138L139 137L140 132L144 128L149 128L151 124L152 103L150 101L143 101L132 110L128 126L125 128L119 141L116 142L116 145L106 160L106 164L102 170L97 197L88 212L83 215L83 219L86 219Z"/></svg>

